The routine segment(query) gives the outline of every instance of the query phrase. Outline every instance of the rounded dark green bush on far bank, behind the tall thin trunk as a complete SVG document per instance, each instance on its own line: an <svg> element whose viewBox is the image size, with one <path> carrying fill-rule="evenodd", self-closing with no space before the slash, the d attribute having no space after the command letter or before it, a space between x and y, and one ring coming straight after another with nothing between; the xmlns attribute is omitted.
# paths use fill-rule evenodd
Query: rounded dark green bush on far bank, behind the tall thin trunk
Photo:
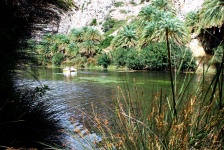
<svg viewBox="0 0 224 150"><path fill-rule="evenodd" d="M165 71L167 69L166 43L151 43L140 51L140 57L149 70ZM196 61L192 52L186 47L172 44L172 68L175 66L181 71L194 70Z"/></svg>

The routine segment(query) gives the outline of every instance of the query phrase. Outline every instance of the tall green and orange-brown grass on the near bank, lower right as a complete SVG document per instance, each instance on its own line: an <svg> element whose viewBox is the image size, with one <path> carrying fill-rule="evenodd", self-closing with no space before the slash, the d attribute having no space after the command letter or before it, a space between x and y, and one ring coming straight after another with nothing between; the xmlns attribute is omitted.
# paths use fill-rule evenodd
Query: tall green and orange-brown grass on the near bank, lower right
<svg viewBox="0 0 224 150"><path fill-rule="evenodd" d="M93 109L88 117L95 125L93 130L102 136L98 146L131 150L223 149L223 63L224 59L211 80L204 71L195 82L194 72L186 74L179 81L181 85L175 84L176 114L169 89L160 89L144 100L147 93L141 93L137 86L131 92L130 87L118 87L113 107L105 106L113 115L105 119Z"/></svg>

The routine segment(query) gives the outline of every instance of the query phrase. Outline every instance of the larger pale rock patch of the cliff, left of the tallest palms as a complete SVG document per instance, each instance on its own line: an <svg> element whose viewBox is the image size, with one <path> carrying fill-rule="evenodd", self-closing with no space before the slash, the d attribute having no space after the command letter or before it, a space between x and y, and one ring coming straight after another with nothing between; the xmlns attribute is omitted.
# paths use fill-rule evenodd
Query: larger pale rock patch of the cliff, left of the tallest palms
<svg viewBox="0 0 224 150"><path fill-rule="evenodd" d="M97 21L95 27L101 30L101 24L106 18L125 20L128 16L136 16L142 6L140 0L121 0L117 2L115 0L75 0L75 3L79 9L73 9L61 16L59 33L68 33L72 28L87 26L93 19Z"/></svg>

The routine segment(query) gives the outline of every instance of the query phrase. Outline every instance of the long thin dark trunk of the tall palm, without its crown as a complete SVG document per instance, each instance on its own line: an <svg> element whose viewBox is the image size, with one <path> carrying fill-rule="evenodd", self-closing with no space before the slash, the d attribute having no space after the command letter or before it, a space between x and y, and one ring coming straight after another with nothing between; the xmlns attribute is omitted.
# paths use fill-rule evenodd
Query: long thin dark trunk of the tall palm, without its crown
<svg viewBox="0 0 224 150"><path fill-rule="evenodd" d="M173 84L170 45L169 45L169 39L168 39L168 28L166 28L166 45L167 45L168 63L169 63L169 69L170 69L171 88L172 88L172 94L173 94L173 111L174 111L174 115L176 117L177 116L177 111L176 111L175 91L174 91L174 84Z"/></svg>

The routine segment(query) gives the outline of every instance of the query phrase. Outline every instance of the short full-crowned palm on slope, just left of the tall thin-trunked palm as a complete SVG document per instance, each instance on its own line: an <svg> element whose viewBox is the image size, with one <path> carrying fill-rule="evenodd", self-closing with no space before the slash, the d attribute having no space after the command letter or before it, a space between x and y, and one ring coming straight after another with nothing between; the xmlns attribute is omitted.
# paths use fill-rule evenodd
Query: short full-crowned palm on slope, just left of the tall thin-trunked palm
<svg viewBox="0 0 224 150"><path fill-rule="evenodd" d="M134 26L127 25L112 40L113 47L131 48L137 44L137 35Z"/></svg>

